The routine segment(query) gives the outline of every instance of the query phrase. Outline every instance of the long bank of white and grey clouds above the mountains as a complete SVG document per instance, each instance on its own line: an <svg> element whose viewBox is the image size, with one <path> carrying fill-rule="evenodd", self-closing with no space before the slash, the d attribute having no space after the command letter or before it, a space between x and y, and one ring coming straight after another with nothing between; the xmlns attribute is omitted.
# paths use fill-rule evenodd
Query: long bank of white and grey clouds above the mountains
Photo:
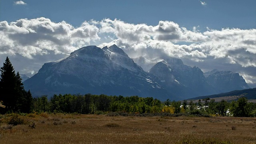
<svg viewBox="0 0 256 144"><path fill-rule="evenodd" d="M200 32L198 26L188 30L171 21L150 26L117 19L85 21L79 27L47 18L0 22L1 57L18 56L43 64L90 44L100 47L116 44L130 57L177 57L203 70L233 67L247 82L256 84L256 74L251 72L256 70L256 29L207 28ZM39 68L23 69L37 72Z"/></svg>

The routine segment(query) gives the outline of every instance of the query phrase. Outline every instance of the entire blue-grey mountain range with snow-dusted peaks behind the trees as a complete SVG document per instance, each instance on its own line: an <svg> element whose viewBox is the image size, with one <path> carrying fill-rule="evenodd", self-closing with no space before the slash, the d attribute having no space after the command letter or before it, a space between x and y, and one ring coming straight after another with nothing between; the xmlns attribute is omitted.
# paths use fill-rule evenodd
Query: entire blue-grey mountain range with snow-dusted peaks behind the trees
<svg viewBox="0 0 256 144"><path fill-rule="evenodd" d="M179 58L130 58L113 45L86 46L66 58L46 63L24 81L33 96L53 94L107 94L181 100L249 88L238 73L203 73Z"/></svg>

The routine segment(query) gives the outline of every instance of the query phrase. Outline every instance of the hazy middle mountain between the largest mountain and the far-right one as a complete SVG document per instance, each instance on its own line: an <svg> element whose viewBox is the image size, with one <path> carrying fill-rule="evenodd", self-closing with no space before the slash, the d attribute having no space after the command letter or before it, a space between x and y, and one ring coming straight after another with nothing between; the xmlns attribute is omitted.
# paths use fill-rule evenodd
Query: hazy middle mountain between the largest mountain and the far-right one
<svg viewBox="0 0 256 144"><path fill-rule="evenodd" d="M163 57L149 73L158 77L160 84L170 93L180 98L189 98L205 94L214 94L217 91L208 84L200 68L186 66L178 58Z"/></svg>

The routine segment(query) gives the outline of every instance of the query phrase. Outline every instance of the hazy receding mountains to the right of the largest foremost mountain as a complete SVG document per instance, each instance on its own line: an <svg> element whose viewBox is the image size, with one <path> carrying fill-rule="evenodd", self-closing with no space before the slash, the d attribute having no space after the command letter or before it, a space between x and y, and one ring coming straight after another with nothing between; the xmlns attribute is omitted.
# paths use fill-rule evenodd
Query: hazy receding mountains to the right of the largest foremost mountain
<svg viewBox="0 0 256 144"><path fill-rule="evenodd" d="M142 57L139 59L142 67L150 63ZM151 62L156 64L148 72L158 77L159 84L166 90L181 98L250 88L242 76L231 71L214 69L203 73L200 68L187 66L181 59L172 57L160 57Z"/></svg>

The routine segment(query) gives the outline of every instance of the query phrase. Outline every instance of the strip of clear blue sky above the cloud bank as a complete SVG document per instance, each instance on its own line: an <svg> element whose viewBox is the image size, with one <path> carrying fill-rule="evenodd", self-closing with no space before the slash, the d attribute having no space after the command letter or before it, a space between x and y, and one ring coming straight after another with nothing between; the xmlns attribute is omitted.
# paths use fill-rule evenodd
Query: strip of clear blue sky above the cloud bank
<svg viewBox="0 0 256 144"><path fill-rule="evenodd" d="M85 20L117 18L148 25L169 20L188 29L256 27L255 0L24 0L26 5L15 5L13 0L0 2L0 20L8 22L45 17L80 26Z"/></svg>

